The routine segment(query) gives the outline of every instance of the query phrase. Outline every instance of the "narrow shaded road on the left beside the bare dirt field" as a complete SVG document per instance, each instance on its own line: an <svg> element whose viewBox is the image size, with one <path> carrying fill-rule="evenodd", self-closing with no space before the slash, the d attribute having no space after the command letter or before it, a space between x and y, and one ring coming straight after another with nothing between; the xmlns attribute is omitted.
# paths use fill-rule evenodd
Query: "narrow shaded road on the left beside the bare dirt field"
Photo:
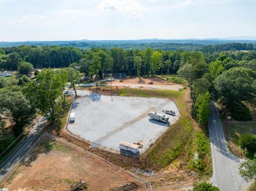
<svg viewBox="0 0 256 191"><path fill-rule="evenodd" d="M37 128L37 123L31 130L28 135L21 141L21 143L7 155L5 160L0 164L0 182L8 175L8 173L13 169L13 167L22 159L22 157L29 150L31 145L35 142L39 132L45 125L46 119L41 118L38 120L39 128Z"/></svg>

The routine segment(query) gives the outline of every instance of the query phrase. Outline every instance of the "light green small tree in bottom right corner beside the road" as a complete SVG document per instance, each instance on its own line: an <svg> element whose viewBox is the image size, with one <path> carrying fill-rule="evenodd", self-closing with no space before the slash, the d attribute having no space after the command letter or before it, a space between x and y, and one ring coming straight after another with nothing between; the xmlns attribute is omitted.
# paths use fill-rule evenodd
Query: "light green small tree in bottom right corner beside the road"
<svg viewBox="0 0 256 191"><path fill-rule="evenodd" d="M253 160L247 160L240 165L239 173L247 181L256 181L256 153Z"/></svg>

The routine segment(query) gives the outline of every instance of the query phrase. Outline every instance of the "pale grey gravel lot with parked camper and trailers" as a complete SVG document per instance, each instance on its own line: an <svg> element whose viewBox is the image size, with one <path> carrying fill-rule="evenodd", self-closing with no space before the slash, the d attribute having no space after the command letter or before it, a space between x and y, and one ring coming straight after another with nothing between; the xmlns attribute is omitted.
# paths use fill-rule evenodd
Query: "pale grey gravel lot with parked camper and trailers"
<svg viewBox="0 0 256 191"><path fill-rule="evenodd" d="M168 98L113 96L111 99L81 90L78 95L83 96L73 104L71 112L75 112L76 120L68 124L68 130L111 152L119 152L119 143L125 140L142 144L140 153L143 153L169 128L166 123L151 120L147 116L149 111L175 111L177 115L169 117L171 124L180 117L177 106Z"/></svg>

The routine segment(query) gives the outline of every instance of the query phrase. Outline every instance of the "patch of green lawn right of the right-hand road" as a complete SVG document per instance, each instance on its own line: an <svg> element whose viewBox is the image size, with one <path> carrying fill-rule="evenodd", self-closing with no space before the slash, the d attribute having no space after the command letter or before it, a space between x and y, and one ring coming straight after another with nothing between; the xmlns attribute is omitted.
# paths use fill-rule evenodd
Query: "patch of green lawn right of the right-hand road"
<svg viewBox="0 0 256 191"><path fill-rule="evenodd" d="M237 124L231 124L229 131L232 142L239 147L239 138L242 134L256 133L256 122L239 122Z"/></svg>

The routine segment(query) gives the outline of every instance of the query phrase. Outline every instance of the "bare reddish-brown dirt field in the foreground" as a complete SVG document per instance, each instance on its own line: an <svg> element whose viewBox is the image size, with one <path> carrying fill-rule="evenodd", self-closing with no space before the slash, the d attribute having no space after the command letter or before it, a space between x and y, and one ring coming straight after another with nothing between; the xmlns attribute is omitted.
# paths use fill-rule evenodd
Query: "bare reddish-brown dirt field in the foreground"
<svg viewBox="0 0 256 191"><path fill-rule="evenodd" d="M82 179L89 184L88 190L114 190L134 182L130 175L64 139L55 138L49 143L55 146L49 151L38 146L4 187L9 190L68 190L75 181ZM136 190L146 190L136 184Z"/></svg>

